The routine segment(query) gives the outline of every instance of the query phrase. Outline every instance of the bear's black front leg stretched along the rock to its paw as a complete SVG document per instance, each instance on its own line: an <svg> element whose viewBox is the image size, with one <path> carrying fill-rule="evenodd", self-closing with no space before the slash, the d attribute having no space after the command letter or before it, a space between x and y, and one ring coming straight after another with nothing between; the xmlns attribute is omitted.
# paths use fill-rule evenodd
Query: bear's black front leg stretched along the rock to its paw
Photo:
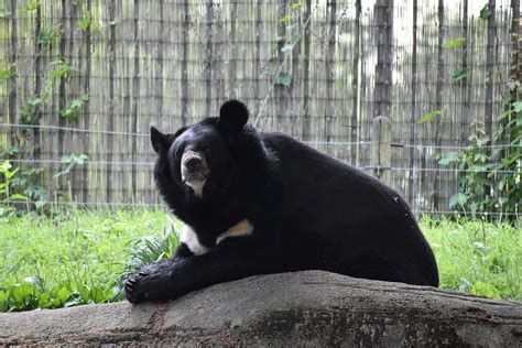
<svg viewBox="0 0 522 348"><path fill-rule="evenodd" d="M150 264L126 283L129 302L165 301L194 290L254 274L282 271L273 250L249 237L230 238L205 254Z"/></svg>

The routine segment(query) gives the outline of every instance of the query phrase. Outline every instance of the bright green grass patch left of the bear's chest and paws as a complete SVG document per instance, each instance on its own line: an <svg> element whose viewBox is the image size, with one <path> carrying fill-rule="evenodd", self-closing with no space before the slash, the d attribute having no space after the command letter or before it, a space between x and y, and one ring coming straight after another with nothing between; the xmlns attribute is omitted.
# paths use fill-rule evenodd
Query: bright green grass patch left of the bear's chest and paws
<svg viewBox="0 0 522 348"><path fill-rule="evenodd" d="M171 225L162 210L68 209L0 220L0 312L122 300L121 274L171 254ZM145 233L153 237L140 238Z"/></svg>

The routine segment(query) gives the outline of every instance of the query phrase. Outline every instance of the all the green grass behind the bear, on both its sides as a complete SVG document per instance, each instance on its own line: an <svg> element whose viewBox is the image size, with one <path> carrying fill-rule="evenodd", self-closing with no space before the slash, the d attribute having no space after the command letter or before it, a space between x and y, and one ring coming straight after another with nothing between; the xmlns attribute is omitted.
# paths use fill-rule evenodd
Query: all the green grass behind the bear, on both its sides
<svg viewBox="0 0 522 348"><path fill-rule="evenodd" d="M1 207L0 207L1 208ZM120 283L176 244L163 210L0 216L0 312L120 301ZM441 287L522 301L520 225L425 217Z"/></svg>

